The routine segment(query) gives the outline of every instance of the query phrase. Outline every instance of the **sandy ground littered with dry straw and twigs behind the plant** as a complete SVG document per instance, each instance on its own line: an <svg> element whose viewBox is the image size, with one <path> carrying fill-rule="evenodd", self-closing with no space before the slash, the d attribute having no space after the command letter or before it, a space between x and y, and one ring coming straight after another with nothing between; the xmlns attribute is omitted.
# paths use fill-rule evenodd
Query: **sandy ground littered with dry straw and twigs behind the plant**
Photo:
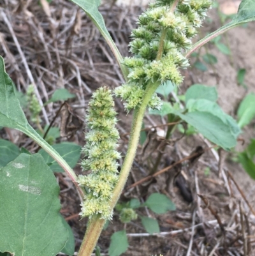
<svg viewBox="0 0 255 256"><path fill-rule="evenodd" d="M221 6L226 2L230 1L219 1ZM31 72L43 102L50 98L55 89L66 87L71 93L77 94L76 100L70 101L69 104L80 119L84 119L85 108L92 91L102 85L113 88L123 82L110 49L89 18L82 11L78 11L76 6L68 1L54 0L50 4L50 17L47 17L45 14L47 10L43 11L35 1L6 3L8 1L0 0L0 6L4 8L13 33L8 23L0 17L0 54L4 57L6 71L15 82L18 91L25 92L27 86L33 83L28 75ZM143 8L105 4L100 10L120 53L127 56L129 34L135 27L136 17ZM200 36L221 26L217 10L211 10L209 16L212 22L208 23L207 20ZM13 36L17 37L21 52ZM195 68L184 72L186 79L180 87L180 92L183 93L196 83L216 86L219 105L228 114L236 117L240 101L247 93L255 93L254 22L247 27L237 27L228 31L222 37L222 41L230 46L231 55L222 54L213 44L201 49L201 55L208 51L217 57L217 63L209 66L206 72ZM29 70L24 67L22 53ZM240 68L246 70L246 88L237 84L237 72ZM41 115L42 126L52 121L60 105L61 103L54 103L45 108L45 114ZM123 112L119 100L116 101L116 109L120 113L118 128L123 135L130 132L131 114L127 115ZM26 114L29 115L28 112ZM59 126L59 122L60 119L57 119L54 126ZM161 119L146 115L145 124L155 126L161 124ZM37 150L33 142L27 140L20 132L5 129L0 133L0 137L9 139L20 147L26 147L31 152ZM139 219L124 225L120 223L119 215L115 213L112 222L102 232L98 241L102 255L108 255L110 236L113 232L122 229L126 229L129 240L129 248L127 252L122 253L123 256L150 256L160 253L164 256L255 255L253 236L255 215L252 210L252 207L255 207L253 197L255 182L238 163L232 160L236 151L242 151L249 144L249 140L255 137L254 123L244 128L240 137L244 139L244 144L238 142L236 149L224 153L210 149L210 144L200 135L182 137L179 132L175 132L163 146L162 143L159 145L159 137L154 134L154 139L149 140L146 149L141 147L138 149L127 186L149 174L157 155L163 149L163 158L157 170L167 167L173 161L177 162L193 155L196 149L201 147L203 154L183 161L181 165L157 176L151 183L136 186L133 190L125 190L120 198L121 201L138 198L142 202L151 193L164 193L175 203L176 211L156 215L148 209L138 209L138 215L150 216L158 220L161 233L154 236L147 234ZM119 150L124 155L128 137L121 138ZM82 128L79 128L71 139L61 138L61 140L77 142L82 146L85 143ZM193 202L183 195L183 190L172 179L176 171L180 170L182 170L181 183L189 188L187 193L189 196L192 195ZM75 172L81 173L79 165L75 167ZM71 181L62 173L55 176L61 187L61 213L73 229L76 251L78 251L87 220L80 220L78 217L80 199ZM199 194L203 196L199 197ZM245 247L244 244L247 246Z"/></svg>

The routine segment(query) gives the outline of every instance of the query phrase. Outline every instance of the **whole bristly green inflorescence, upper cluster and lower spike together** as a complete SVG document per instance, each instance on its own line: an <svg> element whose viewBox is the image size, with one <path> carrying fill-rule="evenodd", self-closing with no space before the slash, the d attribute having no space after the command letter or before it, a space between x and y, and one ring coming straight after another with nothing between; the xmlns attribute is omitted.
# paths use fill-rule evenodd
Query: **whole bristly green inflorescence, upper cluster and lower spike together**
<svg viewBox="0 0 255 256"><path fill-rule="evenodd" d="M191 48L191 38L196 35L196 27L201 26L211 4L211 0L156 0L140 15L129 44L134 56L123 59L129 69L128 82L115 89L115 95L126 100L126 110L139 107L147 86L168 80L176 85L182 82L179 68L189 66L184 52ZM150 108L161 107L161 99L156 94L148 102ZM117 160L120 158L116 151L119 133L115 128L117 119L113 106L110 90L103 87L93 94L87 110L89 132L85 135L86 158L82 167L91 173L78 179L87 191L82 216L99 214L103 219L112 218L109 201L118 181Z"/></svg>

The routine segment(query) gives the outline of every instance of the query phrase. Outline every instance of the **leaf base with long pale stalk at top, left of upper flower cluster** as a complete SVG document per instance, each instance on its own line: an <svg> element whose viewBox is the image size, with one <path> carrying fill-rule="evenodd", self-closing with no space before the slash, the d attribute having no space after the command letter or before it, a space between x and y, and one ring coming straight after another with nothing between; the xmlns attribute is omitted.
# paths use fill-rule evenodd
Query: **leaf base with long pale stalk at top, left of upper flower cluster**
<svg viewBox="0 0 255 256"><path fill-rule="evenodd" d="M124 77L127 77L128 69L121 64L122 56L106 29L103 16L98 11L98 7L101 3L101 0L71 0L71 2L80 6L80 8L82 8L82 10L84 10L85 13L87 13L87 15L91 18L92 22L96 25L96 27L98 27L100 33L105 38L106 43L108 43L110 49L112 50L114 56L116 57L119 63L119 66L122 70L122 73L124 74Z"/></svg>

